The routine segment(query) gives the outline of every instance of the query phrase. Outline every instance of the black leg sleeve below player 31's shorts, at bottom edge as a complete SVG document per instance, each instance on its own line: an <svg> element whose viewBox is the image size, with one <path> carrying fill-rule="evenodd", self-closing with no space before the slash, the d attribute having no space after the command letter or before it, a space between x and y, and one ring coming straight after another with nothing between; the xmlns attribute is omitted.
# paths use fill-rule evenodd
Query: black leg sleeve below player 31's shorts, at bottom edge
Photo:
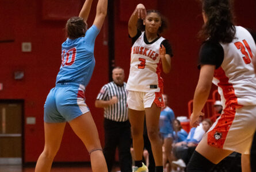
<svg viewBox="0 0 256 172"><path fill-rule="evenodd" d="M187 171L188 172L206 172L215 166L214 163L209 161L207 158L194 151L192 157L190 158Z"/></svg>

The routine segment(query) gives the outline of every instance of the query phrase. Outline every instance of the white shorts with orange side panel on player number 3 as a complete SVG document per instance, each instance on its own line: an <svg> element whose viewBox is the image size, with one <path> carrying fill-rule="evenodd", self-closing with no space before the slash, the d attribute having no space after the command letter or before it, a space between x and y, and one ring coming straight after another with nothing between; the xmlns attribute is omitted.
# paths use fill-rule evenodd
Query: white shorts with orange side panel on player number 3
<svg viewBox="0 0 256 172"><path fill-rule="evenodd" d="M128 91L127 104L128 108L132 110L144 111L145 108L150 108L153 102L158 107L163 107L165 103L162 93Z"/></svg>

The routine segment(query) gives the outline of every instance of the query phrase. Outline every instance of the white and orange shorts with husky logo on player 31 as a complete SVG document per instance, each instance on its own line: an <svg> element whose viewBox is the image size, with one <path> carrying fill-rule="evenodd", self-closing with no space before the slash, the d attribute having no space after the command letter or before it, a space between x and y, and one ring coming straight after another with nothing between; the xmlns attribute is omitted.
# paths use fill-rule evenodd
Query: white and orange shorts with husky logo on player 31
<svg viewBox="0 0 256 172"><path fill-rule="evenodd" d="M208 131L208 144L224 150L250 154L256 129L256 106L226 107Z"/></svg>

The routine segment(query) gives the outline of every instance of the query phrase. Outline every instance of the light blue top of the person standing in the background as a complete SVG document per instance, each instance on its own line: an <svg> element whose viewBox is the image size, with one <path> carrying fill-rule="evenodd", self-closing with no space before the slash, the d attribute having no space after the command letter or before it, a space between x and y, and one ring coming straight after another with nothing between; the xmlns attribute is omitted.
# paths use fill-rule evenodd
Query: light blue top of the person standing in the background
<svg viewBox="0 0 256 172"><path fill-rule="evenodd" d="M170 107L166 107L161 111L159 118L159 127L162 134L173 135L173 120L175 119L174 112Z"/></svg>

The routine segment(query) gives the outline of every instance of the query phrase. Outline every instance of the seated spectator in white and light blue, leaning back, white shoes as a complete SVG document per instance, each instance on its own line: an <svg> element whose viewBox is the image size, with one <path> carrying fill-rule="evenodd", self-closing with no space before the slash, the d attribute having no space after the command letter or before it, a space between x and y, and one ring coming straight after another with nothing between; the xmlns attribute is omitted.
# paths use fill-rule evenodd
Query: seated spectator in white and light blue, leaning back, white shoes
<svg viewBox="0 0 256 172"><path fill-rule="evenodd" d="M196 128L191 128L188 138L184 142L179 142L174 147L174 156L178 161L173 161L173 166L185 168L189 163L197 144L202 139L205 132L212 126L211 119L204 119ZM203 132L202 132L203 131Z"/></svg>

